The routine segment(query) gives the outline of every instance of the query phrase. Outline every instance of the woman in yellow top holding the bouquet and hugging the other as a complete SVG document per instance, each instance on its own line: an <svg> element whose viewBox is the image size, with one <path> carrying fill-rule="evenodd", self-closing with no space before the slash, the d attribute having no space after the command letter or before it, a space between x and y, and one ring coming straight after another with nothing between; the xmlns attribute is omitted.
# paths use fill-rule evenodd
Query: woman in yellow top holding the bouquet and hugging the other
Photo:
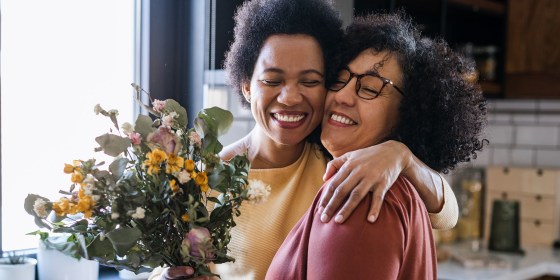
<svg viewBox="0 0 560 280"><path fill-rule="evenodd" d="M248 153L249 178L272 190L267 202L242 206L229 244L235 262L217 265L213 272L223 279L264 279L282 241L323 184L327 156L318 145L318 126L327 94L324 81L336 75L331 62L343 36L342 21L325 0L253 0L238 9L235 22L226 73L256 126L221 156ZM340 168L325 192L324 221L334 216L344 222L370 191L375 193L368 200L371 212L359 219L380 218L383 195L399 173L415 182L430 212L438 213L431 216L435 228L453 227L457 220L457 202L445 180L399 142L351 152L335 163ZM190 273L191 268L177 267L163 278Z"/></svg>

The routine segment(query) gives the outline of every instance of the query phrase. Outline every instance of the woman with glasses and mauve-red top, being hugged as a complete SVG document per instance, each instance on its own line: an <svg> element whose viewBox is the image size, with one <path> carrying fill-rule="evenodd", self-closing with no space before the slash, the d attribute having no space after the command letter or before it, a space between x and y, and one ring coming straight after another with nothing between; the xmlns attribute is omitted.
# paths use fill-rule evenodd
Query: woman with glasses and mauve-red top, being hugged
<svg viewBox="0 0 560 280"><path fill-rule="evenodd" d="M334 157L398 140L446 171L482 150L486 103L471 60L421 37L404 14L358 18L344 42L322 122L321 141ZM437 278L428 214L409 180L399 177L373 224L363 219L371 195L344 224L320 222L321 191L266 279Z"/></svg>

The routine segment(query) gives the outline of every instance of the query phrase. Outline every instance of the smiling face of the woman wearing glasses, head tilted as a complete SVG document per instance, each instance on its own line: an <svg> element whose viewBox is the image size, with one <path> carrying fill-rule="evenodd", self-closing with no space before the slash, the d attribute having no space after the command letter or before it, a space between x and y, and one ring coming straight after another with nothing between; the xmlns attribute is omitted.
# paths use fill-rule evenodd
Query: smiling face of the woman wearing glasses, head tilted
<svg viewBox="0 0 560 280"><path fill-rule="evenodd" d="M394 55L365 50L348 68L352 73L375 72L402 86L402 73ZM321 142L334 156L369 147L390 136L399 118L402 95L391 85L381 94L365 100L356 94L356 77L339 91L327 94Z"/></svg>

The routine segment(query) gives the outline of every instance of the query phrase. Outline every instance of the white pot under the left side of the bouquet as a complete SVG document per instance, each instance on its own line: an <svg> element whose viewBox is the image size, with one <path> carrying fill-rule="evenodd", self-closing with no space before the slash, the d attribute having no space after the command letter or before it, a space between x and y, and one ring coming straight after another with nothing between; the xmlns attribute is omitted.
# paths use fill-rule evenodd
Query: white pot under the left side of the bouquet
<svg viewBox="0 0 560 280"><path fill-rule="evenodd" d="M37 261L41 280L98 280L98 262L77 260L57 250L45 248L43 242L39 242Z"/></svg>

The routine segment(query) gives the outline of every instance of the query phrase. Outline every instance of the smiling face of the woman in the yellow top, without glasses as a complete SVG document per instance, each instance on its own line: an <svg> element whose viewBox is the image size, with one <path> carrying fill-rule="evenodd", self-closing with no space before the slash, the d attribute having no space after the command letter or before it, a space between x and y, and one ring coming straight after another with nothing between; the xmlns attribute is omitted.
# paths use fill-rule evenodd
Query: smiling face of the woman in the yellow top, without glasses
<svg viewBox="0 0 560 280"><path fill-rule="evenodd" d="M323 116L326 89L321 47L308 35L270 36L250 83L243 83L242 90L269 139L281 145L303 144Z"/></svg>

